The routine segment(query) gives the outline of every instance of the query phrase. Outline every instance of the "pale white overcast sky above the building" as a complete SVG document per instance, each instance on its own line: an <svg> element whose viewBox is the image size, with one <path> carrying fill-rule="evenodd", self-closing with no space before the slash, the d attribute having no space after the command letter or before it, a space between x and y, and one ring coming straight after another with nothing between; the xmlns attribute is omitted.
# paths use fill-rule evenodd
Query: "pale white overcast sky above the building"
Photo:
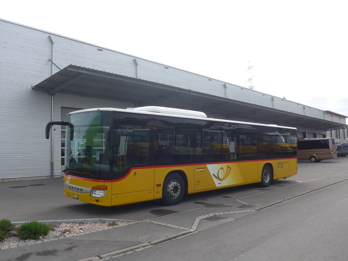
<svg viewBox="0 0 348 261"><path fill-rule="evenodd" d="M346 0L0 3L12 22L243 87L252 77L259 92L346 116L347 10Z"/></svg>

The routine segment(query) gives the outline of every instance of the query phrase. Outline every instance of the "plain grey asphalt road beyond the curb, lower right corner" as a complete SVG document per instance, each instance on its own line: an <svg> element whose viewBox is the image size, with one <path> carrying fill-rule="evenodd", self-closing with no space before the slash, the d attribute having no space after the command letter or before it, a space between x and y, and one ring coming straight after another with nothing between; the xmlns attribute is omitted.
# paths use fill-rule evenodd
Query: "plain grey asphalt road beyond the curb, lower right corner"
<svg viewBox="0 0 348 261"><path fill-rule="evenodd" d="M110 260L348 260L348 181Z"/></svg>

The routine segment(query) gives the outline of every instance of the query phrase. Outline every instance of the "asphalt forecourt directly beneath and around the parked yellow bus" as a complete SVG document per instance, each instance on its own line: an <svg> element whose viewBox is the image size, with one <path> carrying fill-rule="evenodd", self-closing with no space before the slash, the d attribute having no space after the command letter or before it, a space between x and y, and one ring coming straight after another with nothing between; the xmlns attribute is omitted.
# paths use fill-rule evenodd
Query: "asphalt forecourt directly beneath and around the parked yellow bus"
<svg viewBox="0 0 348 261"><path fill-rule="evenodd" d="M62 178L5 182L0 183L1 218L8 218L12 222L95 218L145 220L195 208L239 207L244 205L243 199L257 207L274 202L275 198L287 198L342 180L348 177L344 174L348 174L345 172L347 170L348 157L319 163L300 161L297 175L277 180L268 188L251 184L195 193L175 206L163 206L158 200L125 206L96 206L65 197Z"/></svg>

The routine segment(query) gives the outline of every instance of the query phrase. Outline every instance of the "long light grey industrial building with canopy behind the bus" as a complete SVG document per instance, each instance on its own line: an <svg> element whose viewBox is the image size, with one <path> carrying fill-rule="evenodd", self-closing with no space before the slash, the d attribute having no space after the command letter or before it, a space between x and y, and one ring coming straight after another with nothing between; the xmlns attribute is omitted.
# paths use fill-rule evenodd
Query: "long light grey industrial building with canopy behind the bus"
<svg viewBox="0 0 348 261"><path fill-rule="evenodd" d="M346 116L0 19L0 182L62 175L64 129L88 108L165 106L348 142Z"/></svg>

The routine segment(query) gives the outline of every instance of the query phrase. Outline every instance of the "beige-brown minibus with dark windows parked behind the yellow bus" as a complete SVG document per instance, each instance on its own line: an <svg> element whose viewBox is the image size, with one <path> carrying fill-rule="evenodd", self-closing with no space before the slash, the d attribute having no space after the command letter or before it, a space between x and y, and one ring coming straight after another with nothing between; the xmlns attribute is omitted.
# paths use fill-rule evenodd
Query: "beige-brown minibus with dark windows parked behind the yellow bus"
<svg viewBox="0 0 348 261"><path fill-rule="evenodd" d="M335 139L298 139L298 160L319 162L323 159L337 158Z"/></svg>

